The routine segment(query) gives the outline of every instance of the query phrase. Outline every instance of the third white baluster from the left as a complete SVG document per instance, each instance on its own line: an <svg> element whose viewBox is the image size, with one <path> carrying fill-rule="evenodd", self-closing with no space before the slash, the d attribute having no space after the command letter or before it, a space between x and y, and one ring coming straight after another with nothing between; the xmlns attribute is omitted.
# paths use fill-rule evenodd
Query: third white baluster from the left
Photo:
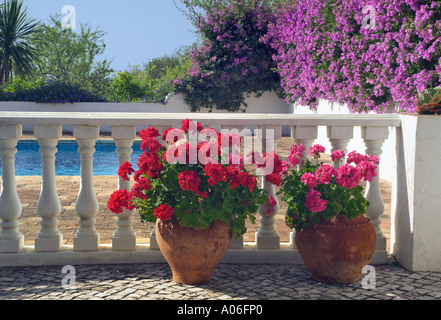
<svg viewBox="0 0 441 320"><path fill-rule="evenodd" d="M100 235L95 228L99 203L93 186L93 154L98 136L98 126L74 126L81 160L81 186L75 203L75 211L80 218L74 237L75 251L96 251L99 248Z"/></svg>

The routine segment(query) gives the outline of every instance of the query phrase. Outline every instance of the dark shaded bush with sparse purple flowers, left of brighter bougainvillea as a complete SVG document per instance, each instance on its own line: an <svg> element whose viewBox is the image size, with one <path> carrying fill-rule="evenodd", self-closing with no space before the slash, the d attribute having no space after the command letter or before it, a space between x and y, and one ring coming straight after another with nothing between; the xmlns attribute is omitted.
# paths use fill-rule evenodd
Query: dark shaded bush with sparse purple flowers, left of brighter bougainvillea
<svg viewBox="0 0 441 320"><path fill-rule="evenodd" d="M204 13L191 1L183 3L202 44L191 53L188 76L176 79L175 87L193 111L200 107L238 111L246 107L247 95L263 91L282 95L272 59L276 51L262 41L274 20L265 1L215 3Z"/></svg>

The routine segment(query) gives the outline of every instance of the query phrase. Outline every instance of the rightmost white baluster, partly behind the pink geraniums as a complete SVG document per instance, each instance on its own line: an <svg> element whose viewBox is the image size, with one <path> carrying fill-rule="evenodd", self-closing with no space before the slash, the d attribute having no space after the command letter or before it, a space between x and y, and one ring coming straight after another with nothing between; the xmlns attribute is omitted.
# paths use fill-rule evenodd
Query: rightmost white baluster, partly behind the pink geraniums
<svg viewBox="0 0 441 320"><path fill-rule="evenodd" d="M383 152L382 146L384 140L386 140L388 136L389 130L387 127L362 127L361 137L366 145L366 154L371 154L380 158L380 155ZM380 166L377 168L377 176L374 177L371 182L367 182L366 184L365 198L371 204L366 212L366 216L371 220L375 233L377 234L376 254L379 255L378 259L386 262L386 237L383 235L380 228L380 217L384 213L384 202L380 190Z"/></svg>

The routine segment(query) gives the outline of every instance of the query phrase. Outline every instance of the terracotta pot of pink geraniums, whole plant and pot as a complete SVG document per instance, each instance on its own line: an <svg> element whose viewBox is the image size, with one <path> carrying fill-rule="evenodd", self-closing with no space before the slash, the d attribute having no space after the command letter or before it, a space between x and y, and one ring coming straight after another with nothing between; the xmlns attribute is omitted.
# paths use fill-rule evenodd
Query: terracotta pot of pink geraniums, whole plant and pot
<svg viewBox="0 0 441 320"><path fill-rule="evenodd" d="M363 197L362 180L376 176L378 158L351 152L335 169L320 161L326 150L293 145L287 174L279 193L288 205L286 224L296 230L295 243L311 276L327 283L350 283L362 276L376 248L376 235L364 216L369 202ZM334 151L334 162L344 162L343 151ZM337 166L336 166L337 167Z"/></svg>

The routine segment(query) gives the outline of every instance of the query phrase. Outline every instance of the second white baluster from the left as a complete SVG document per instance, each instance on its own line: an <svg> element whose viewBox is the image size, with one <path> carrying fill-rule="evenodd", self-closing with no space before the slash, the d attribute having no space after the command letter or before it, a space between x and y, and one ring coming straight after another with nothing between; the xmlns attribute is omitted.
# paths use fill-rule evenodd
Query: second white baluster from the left
<svg viewBox="0 0 441 320"><path fill-rule="evenodd" d="M55 181L55 154L62 135L61 125L35 125L34 135L40 144L42 159L41 193L37 213L41 218L40 232L35 239L36 252L57 252L63 246L63 235L58 231L57 217L61 203Z"/></svg>

